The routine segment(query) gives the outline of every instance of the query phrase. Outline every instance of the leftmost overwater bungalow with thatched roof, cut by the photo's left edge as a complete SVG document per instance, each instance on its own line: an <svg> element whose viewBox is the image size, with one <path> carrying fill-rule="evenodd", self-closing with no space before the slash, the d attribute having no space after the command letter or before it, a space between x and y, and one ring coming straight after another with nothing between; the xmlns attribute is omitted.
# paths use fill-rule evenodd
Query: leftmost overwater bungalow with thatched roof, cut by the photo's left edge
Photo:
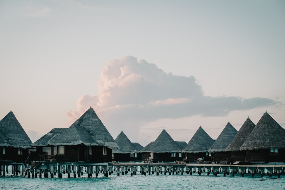
<svg viewBox="0 0 285 190"><path fill-rule="evenodd" d="M22 166L29 156L32 142L25 130L16 119L13 112L9 112L0 121L0 165ZM5 169L3 169L5 172ZM15 167L13 167L15 174ZM22 170L23 172L23 170ZM18 175L18 173L17 173Z"/></svg>

